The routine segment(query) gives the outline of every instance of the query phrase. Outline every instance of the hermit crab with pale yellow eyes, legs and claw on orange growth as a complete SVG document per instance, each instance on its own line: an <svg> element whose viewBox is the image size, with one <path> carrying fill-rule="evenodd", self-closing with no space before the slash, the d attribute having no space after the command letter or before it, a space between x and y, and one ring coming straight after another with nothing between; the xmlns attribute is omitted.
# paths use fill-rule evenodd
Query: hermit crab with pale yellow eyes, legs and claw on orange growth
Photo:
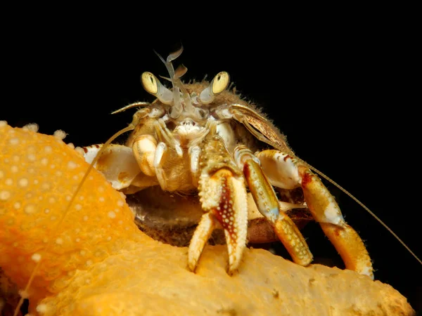
<svg viewBox="0 0 422 316"><path fill-rule="evenodd" d="M197 196L203 210L188 247L188 268L196 270L212 231L221 226L229 252L229 274L238 270L247 243L248 195L270 223L295 263L309 265L312 254L300 230L283 211L282 202L298 207L300 191L313 218L343 258L345 267L373 278L371 258L357 232L345 223L335 199L256 107L229 91L229 74L210 83L184 84L183 65L165 63L172 84L166 88L151 72L141 76L152 103L139 107L126 129L104 145L84 147L84 157L117 190L133 194L159 186L177 195ZM125 145L110 143L132 131ZM315 169L314 169L315 171ZM321 173L320 173L321 174ZM324 176L324 175L322 175Z"/></svg>

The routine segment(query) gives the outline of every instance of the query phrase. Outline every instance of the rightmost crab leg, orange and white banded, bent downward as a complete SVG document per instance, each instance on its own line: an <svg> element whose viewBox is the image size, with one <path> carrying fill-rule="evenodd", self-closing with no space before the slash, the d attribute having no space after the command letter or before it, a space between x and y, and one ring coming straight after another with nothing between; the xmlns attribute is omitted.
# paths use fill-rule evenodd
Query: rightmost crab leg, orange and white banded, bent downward
<svg viewBox="0 0 422 316"><path fill-rule="evenodd" d="M357 232L345 223L334 197L307 166L278 150L257 154L271 185L283 189L302 187L307 206L345 266L373 279L371 258Z"/></svg>

